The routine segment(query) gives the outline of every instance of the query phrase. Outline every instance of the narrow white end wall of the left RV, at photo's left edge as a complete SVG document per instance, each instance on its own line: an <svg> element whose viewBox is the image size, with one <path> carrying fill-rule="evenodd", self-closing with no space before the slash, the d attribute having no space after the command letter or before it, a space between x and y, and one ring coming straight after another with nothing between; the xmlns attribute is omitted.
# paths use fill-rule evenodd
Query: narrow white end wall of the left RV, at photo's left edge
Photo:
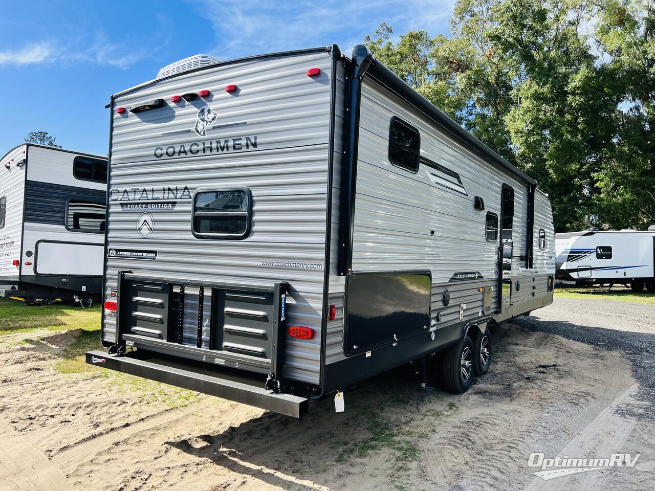
<svg viewBox="0 0 655 491"><path fill-rule="evenodd" d="M0 278L18 276L18 268L12 264L20 258L20 239L23 223L23 193L25 190L26 166L17 167L16 162L25 158L26 146L14 149L0 162L0 198L7 198L5 226L0 228ZM10 168L5 168L9 163ZM0 280L1 281L1 280Z"/></svg>

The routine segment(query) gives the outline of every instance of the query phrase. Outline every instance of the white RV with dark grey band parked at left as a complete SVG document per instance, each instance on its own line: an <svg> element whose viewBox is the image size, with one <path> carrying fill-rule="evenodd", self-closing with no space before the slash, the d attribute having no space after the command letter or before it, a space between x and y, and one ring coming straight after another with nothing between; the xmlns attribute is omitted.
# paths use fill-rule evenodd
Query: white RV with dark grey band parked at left
<svg viewBox="0 0 655 491"><path fill-rule="evenodd" d="M0 160L0 297L102 291L107 158L22 143Z"/></svg>

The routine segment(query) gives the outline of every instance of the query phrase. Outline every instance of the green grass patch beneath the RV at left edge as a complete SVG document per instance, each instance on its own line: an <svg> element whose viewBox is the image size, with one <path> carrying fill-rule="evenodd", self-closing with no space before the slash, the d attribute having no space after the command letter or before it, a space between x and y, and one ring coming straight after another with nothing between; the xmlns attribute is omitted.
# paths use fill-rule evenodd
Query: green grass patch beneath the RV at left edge
<svg viewBox="0 0 655 491"><path fill-rule="evenodd" d="M81 308L59 302L52 305L27 305L18 300L0 299L0 336L28 333L35 329L84 329L98 333L100 312L99 304L91 308Z"/></svg>

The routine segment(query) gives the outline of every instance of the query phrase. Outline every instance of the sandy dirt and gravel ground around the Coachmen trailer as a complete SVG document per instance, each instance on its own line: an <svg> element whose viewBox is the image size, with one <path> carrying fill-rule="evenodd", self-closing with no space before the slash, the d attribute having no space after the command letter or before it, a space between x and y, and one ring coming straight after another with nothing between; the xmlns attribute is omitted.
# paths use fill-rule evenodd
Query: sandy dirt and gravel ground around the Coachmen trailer
<svg viewBox="0 0 655 491"><path fill-rule="evenodd" d="M648 365L579 334L655 308L600 305L567 300L496 327L490 372L463 395L415 391L404 367L345 388L345 412L313 401L300 421L122 374L58 373L75 333L1 336L0 490L652 490L654 408L635 378ZM654 323L626 330L655 346ZM641 457L543 481L533 452Z"/></svg>

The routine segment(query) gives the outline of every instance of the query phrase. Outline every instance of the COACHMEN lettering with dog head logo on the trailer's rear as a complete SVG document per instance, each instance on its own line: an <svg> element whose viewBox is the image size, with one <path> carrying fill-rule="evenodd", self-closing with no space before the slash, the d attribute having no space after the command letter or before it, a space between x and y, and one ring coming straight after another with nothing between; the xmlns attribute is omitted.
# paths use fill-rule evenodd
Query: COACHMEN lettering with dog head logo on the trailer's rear
<svg viewBox="0 0 655 491"><path fill-rule="evenodd" d="M235 124L215 124L210 127L218 117L211 107L203 106L198 111L198 116L194 122L193 131L198 136L209 138L210 128L226 128L228 126L238 126L244 123ZM184 130L189 132L191 130ZM191 143L179 143L177 145L167 145L166 147L156 147L153 155L155 158L174 158L186 157L193 155L207 155L212 153L242 152L257 148L257 135L243 135L234 138L208 139L208 141L193 141Z"/></svg>

